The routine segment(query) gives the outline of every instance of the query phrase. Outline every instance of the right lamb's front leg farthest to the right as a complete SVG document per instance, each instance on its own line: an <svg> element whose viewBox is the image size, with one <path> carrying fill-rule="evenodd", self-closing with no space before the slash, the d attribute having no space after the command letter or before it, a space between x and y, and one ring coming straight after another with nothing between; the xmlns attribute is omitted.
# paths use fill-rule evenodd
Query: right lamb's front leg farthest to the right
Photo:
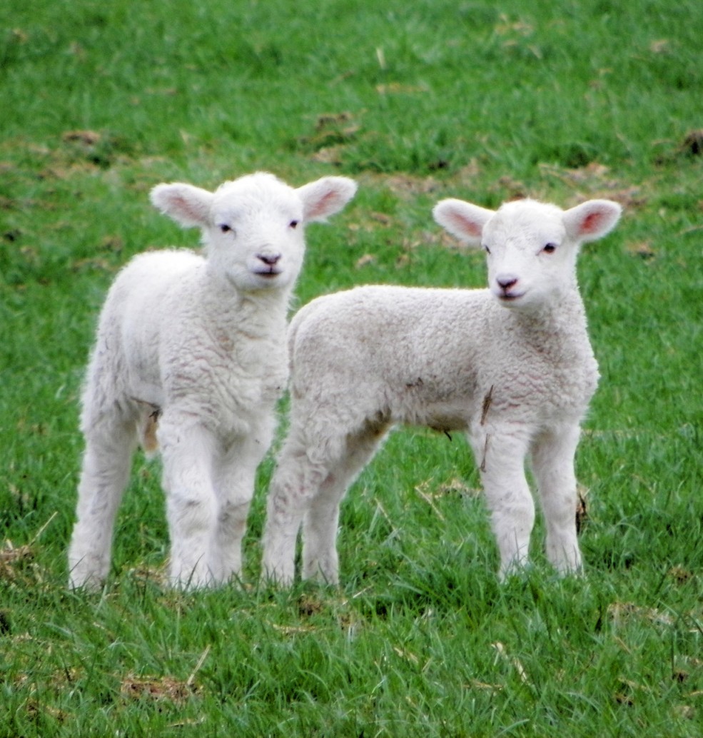
<svg viewBox="0 0 703 738"><path fill-rule="evenodd" d="M574 473L580 435L578 425L569 425L543 433L533 444L533 471L547 524L547 558L561 573L581 569Z"/></svg>

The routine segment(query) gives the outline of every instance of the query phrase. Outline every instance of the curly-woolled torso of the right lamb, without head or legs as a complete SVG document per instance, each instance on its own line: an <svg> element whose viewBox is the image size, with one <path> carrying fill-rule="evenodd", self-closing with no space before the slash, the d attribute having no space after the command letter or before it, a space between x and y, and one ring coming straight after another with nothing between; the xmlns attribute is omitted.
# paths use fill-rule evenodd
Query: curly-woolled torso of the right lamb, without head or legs
<svg viewBox="0 0 703 738"><path fill-rule="evenodd" d="M573 310L559 325L531 320L487 289L367 286L320 297L291 325L293 390L317 403L371 398L394 421L443 430L475 421L489 394L494 418L580 415L598 373Z"/></svg>

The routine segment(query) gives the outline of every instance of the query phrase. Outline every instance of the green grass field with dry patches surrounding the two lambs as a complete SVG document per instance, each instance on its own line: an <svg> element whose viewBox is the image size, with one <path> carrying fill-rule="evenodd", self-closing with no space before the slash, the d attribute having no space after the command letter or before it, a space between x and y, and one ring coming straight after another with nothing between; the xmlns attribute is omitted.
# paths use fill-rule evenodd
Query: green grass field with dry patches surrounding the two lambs
<svg viewBox="0 0 703 738"><path fill-rule="evenodd" d="M0 738L703 735L703 5L682 0L6 0L0 7ZM581 255L603 375L578 475L582 579L499 585L462 438L399 430L342 508L339 588L163 586L138 457L103 593L66 590L97 311L184 180L328 173L297 301L482 286L446 196L594 196ZM460 329L460 326L457 326ZM285 427L285 404L282 407Z"/></svg>

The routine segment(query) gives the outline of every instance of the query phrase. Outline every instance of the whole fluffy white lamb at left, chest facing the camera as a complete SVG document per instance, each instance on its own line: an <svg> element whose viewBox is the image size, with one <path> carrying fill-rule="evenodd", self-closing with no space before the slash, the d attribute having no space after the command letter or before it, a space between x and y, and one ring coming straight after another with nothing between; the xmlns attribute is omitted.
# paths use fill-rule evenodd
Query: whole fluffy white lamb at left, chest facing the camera
<svg viewBox="0 0 703 738"><path fill-rule="evenodd" d="M344 177L294 189L263 172L214 193L153 188L158 210L201 228L205 253L138 255L108 293L83 388L70 586L99 587L108 573L138 441L162 453L170 582L201 587L240 573L254 473L288 379L287 311L304 227L341 210L355 191Z"/></svg>

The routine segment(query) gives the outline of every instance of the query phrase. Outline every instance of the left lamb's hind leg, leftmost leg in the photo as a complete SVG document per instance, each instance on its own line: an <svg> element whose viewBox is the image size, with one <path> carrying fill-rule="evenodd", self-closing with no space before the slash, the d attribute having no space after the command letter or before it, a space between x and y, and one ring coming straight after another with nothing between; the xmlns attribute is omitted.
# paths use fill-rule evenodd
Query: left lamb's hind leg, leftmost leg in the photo
<svg viewBox="0 0 703 738"><path fill-rule="evenodd" d="M69 546L69 586L96 588L110 568L114 520L129 478L136 427L117 412L84 425L86 450Z"/></svg>

